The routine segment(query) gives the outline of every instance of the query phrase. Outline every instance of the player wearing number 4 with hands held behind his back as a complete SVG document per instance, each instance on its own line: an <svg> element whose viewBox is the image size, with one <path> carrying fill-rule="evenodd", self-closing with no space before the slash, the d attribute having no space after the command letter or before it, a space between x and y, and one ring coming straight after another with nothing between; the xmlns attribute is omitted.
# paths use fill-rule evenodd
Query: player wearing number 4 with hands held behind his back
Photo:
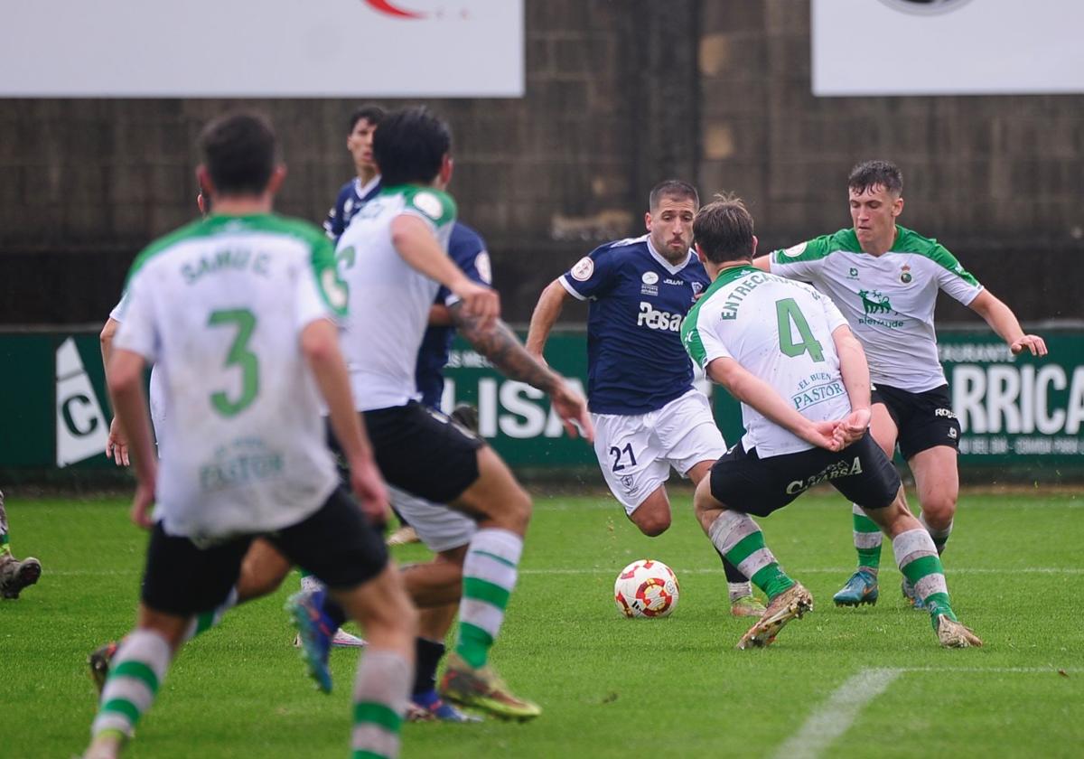
<svg viewBox="0 0 1084 759"><path fill-rule="evenodd" d="M941 645L982 645L956 619L933 541L867 434L869 370L847 320L813 287L753 268L757 237L740 201L708 204L693 231L712 283L682 323L682 343L741 401L746 428L700 480L694 504L715 549L769 597L738 647L769 645L813 608L813 596L783 571L749 515L767 516L820 483L859 503L892 540Z"/></svg>

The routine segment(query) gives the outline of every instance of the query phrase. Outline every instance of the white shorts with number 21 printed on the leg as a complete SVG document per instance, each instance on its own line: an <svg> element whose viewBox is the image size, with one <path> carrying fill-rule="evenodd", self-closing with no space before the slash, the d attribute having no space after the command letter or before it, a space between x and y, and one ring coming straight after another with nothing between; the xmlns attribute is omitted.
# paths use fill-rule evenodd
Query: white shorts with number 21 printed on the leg
<svg viewBox="0 0 1084 759"><path fill-rule="evenodd" d="M689 390L646 414L591 414L595 454L614 498L632 514L670 478L670 467L684 477L701 461L726 452L711 403Z"/></svg>

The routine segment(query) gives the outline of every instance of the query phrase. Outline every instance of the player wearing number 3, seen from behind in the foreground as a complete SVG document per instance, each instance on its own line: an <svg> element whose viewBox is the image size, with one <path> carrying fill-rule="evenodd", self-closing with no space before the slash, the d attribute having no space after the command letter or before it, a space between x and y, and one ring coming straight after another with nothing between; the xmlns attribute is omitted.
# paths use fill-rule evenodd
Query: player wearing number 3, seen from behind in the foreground
<svg viewBox="0 0 1084 759"><path fill-rule="evenodd" d="M370 526L387 493L353 412L334 319L346 293L317 228L271 213L285 177L262 118L212 121L201 185L216 213L132 265L109 365L134 460L132 520L151 528L137 627L109 666L86 757L116 757L151 707L193 617L221 605L262 536L320 578L369 638L353 691L353 756L393 757L413 677L416 613ZM172 413L154 455L143 372ZM361 509L340 487L321 402ZM151 514L152 502L157 502Z"/></svg>

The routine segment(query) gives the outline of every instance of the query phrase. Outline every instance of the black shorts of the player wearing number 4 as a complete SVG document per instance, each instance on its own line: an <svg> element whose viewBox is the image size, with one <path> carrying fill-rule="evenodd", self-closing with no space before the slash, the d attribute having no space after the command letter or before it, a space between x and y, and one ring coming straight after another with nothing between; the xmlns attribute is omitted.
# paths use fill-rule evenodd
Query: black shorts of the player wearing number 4
<svg viewBox="0 0 1084 759"><path fill-rule="evenodd" d="M900 474L868 434L841 451L811 448L769 459L738 442L711 467L715 500L754 516L783 509L821 483L863 509L883 509L895 500Z"/></svg>

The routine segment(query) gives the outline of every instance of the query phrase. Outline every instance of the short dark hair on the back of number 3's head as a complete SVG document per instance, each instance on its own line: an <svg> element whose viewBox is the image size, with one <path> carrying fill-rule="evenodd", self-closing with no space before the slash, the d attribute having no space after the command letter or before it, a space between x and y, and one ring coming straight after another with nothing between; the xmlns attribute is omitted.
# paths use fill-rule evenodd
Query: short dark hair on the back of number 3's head
<svg viewBox="0 0 1084 759"><path fill-rule="evenodd" d="M216 118L204 127L199 147L219 196L261 194L279 157L271 123L251 113Z"/></svg>

